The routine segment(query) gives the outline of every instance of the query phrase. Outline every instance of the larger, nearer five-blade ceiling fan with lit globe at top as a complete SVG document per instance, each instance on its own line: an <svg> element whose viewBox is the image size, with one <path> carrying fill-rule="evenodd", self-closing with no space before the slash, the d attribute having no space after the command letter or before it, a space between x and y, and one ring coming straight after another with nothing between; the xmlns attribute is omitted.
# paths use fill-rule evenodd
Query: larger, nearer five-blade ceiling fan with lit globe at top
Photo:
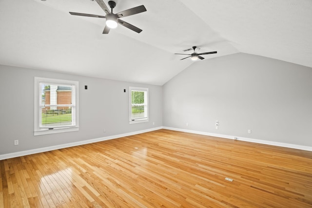
<svg viewBox="0 0 312 208"><path fill-rule="evenodd" d="M106 13L105 16L101 16L101 15L90 15L90 14L84 14L84 13L77 13L77 12L69 12L71 15L77 15L77 16L85 16L85 17L93 17L93 18L104 18L106 19L106 25L104 27L103 30L103 34L108 34L111 28L116 28L117 27L117 23L119 23L122 26L125 26L127 28L129 28L130 30L133 30L137 33L142 32L141 29L137 28L136 26L129 24L128 22L125 22L119 18L124 18L130 15L135 15L141 12L145 12L146 8L144 5L141 6L137 6L131 9L127 9L125 11L122 12L118 12L116 14L113 13L113 9L116 6L116 2L115 1L108 1L108 5L111 8L111 11L107 8L106 4L104 3L103 0L96 0L98 5L104 10L104 12Z"/></svg>

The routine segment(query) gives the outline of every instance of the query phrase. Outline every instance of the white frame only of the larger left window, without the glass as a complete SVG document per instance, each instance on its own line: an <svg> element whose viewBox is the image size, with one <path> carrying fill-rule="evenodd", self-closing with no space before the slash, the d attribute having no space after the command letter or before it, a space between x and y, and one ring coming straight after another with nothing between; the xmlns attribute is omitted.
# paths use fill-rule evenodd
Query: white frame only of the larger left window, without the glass
<svg viewBox="0 0 312 208"><path fill-rule="evenodd" d="M34 135L44 135L44 134L52 134L52 133L61 133L61 132L75 132L79 131L79 108L78 108L78 89L79 89L79 82L78 81L73 81L73 80L64 80L64 79L53 79L53 78L45 78L45 77L37 77L35 76L34 79L34 95L35 95L35 100L34 100L34 109L35 109L35 119L34 119ZM50 127L40 127L40 116L41 116L41 105L42 101L40 99L41 97L41 92L40 92L40 84L39 83L49 83L52 85L72 85L74 87L74 98L73 101L74 103L74 110L72 109L73 113L73 125L72 126L58 126L54 128Z"/></svg>

